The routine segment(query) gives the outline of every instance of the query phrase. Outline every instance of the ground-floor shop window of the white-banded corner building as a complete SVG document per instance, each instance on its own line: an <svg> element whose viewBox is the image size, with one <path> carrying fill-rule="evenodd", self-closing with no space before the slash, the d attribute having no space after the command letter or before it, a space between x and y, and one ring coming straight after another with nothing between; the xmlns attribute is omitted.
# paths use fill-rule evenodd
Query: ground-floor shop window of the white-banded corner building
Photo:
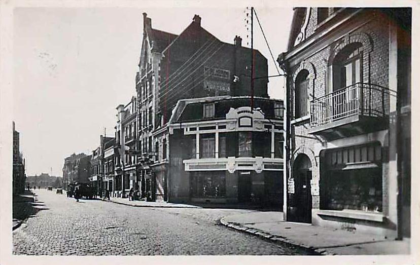
<svg viewBox="0 0 420 265"><path fill-rule="evenodd" d="M225 173L223 171L193 172L191 175L191 195L195 198L225 197Z"/></svg>

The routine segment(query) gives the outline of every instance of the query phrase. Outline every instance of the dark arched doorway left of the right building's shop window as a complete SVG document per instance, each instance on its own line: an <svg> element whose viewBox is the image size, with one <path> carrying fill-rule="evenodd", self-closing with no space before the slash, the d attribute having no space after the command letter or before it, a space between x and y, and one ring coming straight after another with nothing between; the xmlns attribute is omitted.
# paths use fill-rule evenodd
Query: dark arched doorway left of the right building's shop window
<svg viewBox="0 0 420 265"><path fill-rule="evenodd" d="M294 205L296 207L294 220L297 222L311 222L312 196L310 180L312 179L312 164L306 155L299 155L293 164L293 178L295 181Z"/></svg>

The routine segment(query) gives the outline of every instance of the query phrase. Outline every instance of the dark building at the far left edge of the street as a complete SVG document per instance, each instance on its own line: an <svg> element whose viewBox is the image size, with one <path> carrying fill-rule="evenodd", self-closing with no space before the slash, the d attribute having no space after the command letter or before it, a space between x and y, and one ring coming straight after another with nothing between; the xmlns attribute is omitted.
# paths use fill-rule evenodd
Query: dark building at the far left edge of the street
<svg viewBox="0 0 420 265"><path fill-rule="evenodd" d="M13 194L23 193L25 189L25 160L20 153L19 132L13 122Z"/></svg>

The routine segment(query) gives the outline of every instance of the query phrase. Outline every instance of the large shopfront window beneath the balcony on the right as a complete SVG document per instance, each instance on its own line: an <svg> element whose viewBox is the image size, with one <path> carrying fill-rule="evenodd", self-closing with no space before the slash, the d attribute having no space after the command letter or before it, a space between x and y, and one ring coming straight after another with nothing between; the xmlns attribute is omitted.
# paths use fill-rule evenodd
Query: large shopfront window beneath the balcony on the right
<svg viewBox="0 0 420 265"><path fill-rule="evenodd" d="M322 209L382 211L379 143L327 150L322 164Z"/></svg>

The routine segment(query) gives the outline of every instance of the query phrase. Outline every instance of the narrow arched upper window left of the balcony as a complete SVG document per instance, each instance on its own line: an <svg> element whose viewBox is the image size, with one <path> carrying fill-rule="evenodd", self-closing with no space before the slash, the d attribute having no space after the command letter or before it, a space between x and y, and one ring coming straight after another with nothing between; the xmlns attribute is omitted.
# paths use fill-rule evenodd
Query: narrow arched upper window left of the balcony
<svg viewBox="0 0 420 265"><path fill-rule="evenodd" d="M309 72L301 70L295 80L295 118L308 115Z"/></svg>

